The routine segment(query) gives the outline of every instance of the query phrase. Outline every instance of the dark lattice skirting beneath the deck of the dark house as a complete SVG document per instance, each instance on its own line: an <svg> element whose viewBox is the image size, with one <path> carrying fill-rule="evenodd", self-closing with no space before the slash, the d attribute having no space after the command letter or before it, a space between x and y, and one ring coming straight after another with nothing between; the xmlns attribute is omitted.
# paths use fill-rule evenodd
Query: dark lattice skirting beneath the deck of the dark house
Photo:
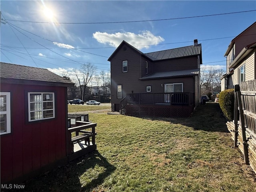
<svg viewBox="0 0 256 192"><path fill-rule="evenodd" d="M158 105L126 105L125 114L128 116L152 117L189 117L194 106L158 106Z"/></svg>

